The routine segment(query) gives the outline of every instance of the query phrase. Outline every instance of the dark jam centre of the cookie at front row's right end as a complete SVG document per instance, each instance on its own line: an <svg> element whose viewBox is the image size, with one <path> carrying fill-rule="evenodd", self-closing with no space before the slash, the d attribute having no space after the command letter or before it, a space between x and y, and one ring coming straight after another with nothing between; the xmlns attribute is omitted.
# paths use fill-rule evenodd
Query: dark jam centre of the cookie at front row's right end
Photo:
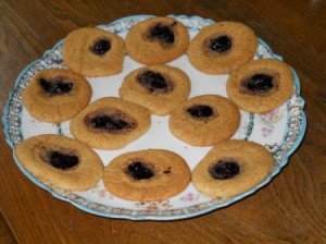
<svg viewBox="0 0 326 244"><path fill-rule="evenodd" d="M210 174L217 180L227 180L240 173L240 167L235 160L218 160L210 168Z"/></svg>

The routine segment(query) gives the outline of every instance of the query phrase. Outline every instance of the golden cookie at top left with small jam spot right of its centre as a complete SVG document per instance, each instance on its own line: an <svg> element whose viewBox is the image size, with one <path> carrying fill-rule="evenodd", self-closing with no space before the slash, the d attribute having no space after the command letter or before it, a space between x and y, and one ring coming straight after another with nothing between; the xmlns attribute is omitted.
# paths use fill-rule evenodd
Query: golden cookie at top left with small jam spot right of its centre
<svg viewBox="0 0 326 244"><path fill-rule="evenodd" d="M121 73L124 52L120 36L95 27L73 30L62 45L64 64L84 76Z"/></svg>

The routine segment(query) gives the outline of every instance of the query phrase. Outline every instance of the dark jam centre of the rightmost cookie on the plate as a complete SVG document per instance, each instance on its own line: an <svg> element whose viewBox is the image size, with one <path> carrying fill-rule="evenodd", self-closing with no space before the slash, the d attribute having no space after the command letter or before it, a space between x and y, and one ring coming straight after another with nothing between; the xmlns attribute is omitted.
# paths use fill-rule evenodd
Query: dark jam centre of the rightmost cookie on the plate
<svg viewBox="0 0 326 244"><path fill-rule="evenodd" d="M274 87L274 78L268 74L254 74L243 80L242 86L252 93L267 93Z"/></svg>

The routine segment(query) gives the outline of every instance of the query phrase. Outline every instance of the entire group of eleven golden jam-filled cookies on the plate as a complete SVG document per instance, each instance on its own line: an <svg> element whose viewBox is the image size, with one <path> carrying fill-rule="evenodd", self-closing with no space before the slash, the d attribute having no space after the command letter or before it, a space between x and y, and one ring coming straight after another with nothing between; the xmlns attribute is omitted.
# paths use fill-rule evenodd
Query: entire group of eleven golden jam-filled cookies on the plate
<svg viewBox="0 0 326 244"><path fill-rule="evenodd" d="M125 39L99 28L79 28L63 42L67 66L40 71L23 93L36 119L49 123L71 120L74 138L30 137L15 148L23 167L53 188L84 191L103 180L106 190L127 200L162 200L183 192L192 181L211 197L233 197L262 182L274 169L263 146L231 139L240 110L264 113L292 94L289 66L278 60L253 60L258 38L247 25L212 24L190 40L189 30L173 17L137 23ZM91 103L86 77L122 73L125 53L142 66L121 83L120 97ZM198 71L228 74L227 97L205 94L189 98L191 78L166 63L187 53ZM93 148L117 150L143 136L151 115L168 117L168 129L179 141L212 149L193 171L178 154L150 148L128 151L104 168Z"/></svg>

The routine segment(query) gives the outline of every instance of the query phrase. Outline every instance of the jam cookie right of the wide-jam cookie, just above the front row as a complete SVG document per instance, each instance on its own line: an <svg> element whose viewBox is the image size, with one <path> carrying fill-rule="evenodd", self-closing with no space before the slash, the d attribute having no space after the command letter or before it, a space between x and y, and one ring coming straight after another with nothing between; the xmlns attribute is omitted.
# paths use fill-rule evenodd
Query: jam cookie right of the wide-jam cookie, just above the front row
<svg viewBox="0 0 326 244"><path fill-rule="evenodd" d="M192 146L212 146L229 139L239 124L238 107L218 95L201 95L185 101L168 121L173 135Z"/></svg>

